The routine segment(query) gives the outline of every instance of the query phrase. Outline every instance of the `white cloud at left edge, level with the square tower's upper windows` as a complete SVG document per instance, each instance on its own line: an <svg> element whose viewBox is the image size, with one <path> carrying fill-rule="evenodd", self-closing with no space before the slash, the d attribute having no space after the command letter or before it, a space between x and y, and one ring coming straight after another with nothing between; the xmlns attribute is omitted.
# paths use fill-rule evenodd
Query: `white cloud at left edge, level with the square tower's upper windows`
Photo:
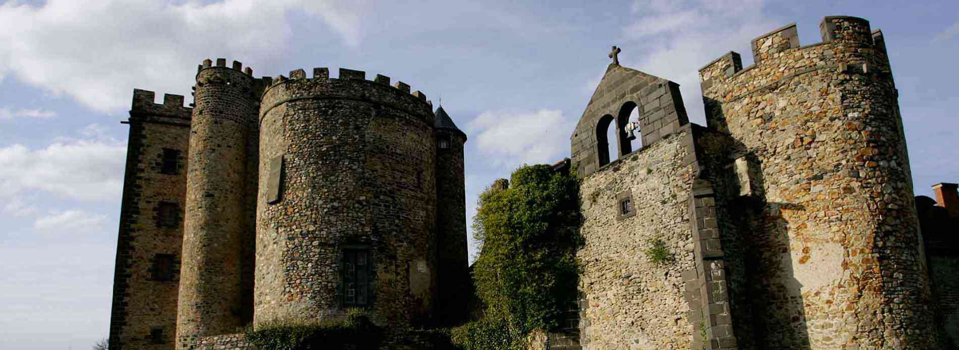
<svg viewBox="0 0 959 350"><path fill-rule="evenodd" d="M44 149L0 148L0 198L46 192L60 198L116 200L127 147L109 139L59 139Z"/></svg>

